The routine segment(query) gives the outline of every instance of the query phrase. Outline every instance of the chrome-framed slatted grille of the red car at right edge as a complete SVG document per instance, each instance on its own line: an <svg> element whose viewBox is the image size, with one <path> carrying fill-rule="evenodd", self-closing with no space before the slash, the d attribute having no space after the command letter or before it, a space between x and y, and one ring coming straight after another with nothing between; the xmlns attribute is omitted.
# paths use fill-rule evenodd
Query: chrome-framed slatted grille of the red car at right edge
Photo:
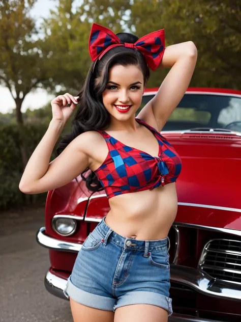
<svg viewBox="0 0 241 322"><path fill-rule="evenodd" d="M241 284L241 241L213 239L204 246L199 269L220 280Z"/></svg>

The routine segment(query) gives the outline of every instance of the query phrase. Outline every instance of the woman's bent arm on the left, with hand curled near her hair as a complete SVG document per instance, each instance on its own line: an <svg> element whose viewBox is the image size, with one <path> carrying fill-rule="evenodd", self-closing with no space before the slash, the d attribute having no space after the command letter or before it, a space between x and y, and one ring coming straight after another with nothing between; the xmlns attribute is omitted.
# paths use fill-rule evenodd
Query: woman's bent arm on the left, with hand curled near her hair
<svg viewBox="0 0 241 322"><path fill-rule="evenodd" d="M77 104L70 94L52 100L53 119L29 158L19 183L25 194L39 194L63 186L76 178L89 165L88 133L75 138L51 163L50 157L64 125Z"/></svg>

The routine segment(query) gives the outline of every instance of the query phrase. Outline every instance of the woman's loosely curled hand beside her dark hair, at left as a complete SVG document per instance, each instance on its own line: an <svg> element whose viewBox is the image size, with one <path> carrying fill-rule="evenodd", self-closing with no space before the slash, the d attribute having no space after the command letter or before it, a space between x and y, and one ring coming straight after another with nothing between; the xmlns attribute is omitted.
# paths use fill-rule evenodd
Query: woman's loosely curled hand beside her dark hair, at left
<svg viewBox="0 0 241 322"><path fill-rule="evenodd" d="M52 106L52 120L63 122L66 124L70 116L72 115L76 104L78 104L78 96L70 95L66 93L64 95L58 95L51 101Z"/></svg>

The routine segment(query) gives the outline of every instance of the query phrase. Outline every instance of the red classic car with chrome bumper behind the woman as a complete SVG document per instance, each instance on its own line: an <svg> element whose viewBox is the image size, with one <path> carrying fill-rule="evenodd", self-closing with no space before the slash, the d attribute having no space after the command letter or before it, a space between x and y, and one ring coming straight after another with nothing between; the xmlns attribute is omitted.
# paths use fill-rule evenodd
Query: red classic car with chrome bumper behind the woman
<svg viewBox="0 0 241 322"><path fill-rule="evenodd" d="M157 89L146 90L143 105ZM189 88L162 134L182 157L171 240L169 321L241 321L241 91ZM37 241L46 289L63 289L83 241L109 211L80 177L50 191Z"/></svg>

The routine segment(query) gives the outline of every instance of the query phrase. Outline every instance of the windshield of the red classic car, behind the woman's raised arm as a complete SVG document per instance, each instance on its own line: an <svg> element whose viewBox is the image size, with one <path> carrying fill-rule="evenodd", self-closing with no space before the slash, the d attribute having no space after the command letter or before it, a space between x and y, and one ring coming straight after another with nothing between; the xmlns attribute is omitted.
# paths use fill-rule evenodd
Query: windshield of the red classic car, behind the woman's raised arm
<svg viewBox="0 0 241 322"><path fill-rule="evenodd" d="M139 111L153 97L154 95L144 95ZM193 128L220 128L241 132L241 98L231 95L185 94L163 131Z"/></svg>

